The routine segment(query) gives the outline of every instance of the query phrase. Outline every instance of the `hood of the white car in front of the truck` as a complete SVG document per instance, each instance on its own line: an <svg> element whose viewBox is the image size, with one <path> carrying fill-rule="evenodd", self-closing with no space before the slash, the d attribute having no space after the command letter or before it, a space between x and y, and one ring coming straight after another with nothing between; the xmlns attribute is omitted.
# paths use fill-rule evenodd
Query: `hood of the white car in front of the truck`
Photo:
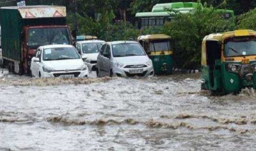
<svg viewBox="0 0 256 151"><path fill-rule="evenodd" d="M45 67L52 68L54 70L76 70L84 65L83 60L52 60L44 61Z"/></svg>

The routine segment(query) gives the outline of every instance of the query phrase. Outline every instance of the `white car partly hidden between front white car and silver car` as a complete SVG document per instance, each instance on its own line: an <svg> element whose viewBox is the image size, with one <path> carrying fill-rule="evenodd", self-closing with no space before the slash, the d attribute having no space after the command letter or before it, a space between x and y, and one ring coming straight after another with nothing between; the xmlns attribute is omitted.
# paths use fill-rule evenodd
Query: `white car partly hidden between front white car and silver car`
<svg viewBox="0 0 256 151"><path fill-rule="evenodd" d="M105 41L102 40L84 40L76 43L76 49L81 55L84 63L88 66L89 71L96 70L97 56L100 52L100 47Z"/></svg>

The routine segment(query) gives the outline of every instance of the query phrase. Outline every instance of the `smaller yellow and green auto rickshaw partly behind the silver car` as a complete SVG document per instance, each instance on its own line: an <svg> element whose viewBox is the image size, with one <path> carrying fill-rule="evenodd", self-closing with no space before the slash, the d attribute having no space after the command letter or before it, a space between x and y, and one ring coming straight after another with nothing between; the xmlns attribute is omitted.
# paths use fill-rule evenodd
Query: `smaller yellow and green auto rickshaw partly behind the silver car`
<svg viewBox="0 0 256 151"><path fill-rule="evenodd" d="M138 42L152 60L155 74L172 74L173 49L170 36L164 34L144 35L138 37Z"/></svg>

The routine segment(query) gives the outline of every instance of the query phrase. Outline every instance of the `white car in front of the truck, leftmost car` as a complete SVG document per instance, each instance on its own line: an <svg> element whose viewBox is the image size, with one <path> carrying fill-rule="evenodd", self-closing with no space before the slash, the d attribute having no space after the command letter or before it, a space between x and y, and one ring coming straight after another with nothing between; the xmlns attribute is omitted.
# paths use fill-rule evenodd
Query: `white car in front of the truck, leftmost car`
<svg viewBox="0 0 256 151"><path fill-rule="evenodd" d="M44 45L31 60L35 77L88 77L88 67L72 45Z"/></svg>

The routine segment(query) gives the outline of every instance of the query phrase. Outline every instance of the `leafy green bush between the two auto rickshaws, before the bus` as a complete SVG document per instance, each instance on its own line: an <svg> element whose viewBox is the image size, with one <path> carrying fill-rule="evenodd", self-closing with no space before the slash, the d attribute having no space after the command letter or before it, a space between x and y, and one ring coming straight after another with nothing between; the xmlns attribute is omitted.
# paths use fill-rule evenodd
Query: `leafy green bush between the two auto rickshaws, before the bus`
<svg viewBox="0 0 256 151"><path fill-rule="evenodd" d="M164 26L164 32L175 40L174 58L177 66L186 68L200 65L204 36L234 29L235 25L222 19L214 8L196 8L193 14L180 13Z"/></svg>

